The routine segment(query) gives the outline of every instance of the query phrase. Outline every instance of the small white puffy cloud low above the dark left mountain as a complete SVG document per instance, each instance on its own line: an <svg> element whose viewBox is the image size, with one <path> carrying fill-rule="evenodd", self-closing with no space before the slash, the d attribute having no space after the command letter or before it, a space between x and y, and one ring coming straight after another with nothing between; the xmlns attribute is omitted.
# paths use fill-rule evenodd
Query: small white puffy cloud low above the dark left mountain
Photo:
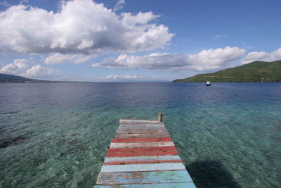
<svg viewBox="0 0 281 188"><path fill-rule="evenodd" d="M15 59L13 63L0 68L0 73L8 75L20 75L29 78L49 78L57 75L59 70L34 65L27 59Z"/></svg>

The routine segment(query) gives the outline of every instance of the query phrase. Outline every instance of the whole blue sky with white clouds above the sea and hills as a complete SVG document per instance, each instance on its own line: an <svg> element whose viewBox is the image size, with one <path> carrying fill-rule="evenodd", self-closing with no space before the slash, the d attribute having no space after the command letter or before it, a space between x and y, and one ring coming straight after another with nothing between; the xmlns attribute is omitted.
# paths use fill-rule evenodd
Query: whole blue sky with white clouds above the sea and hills
<svg viewBox="0 0 281 188"><path fill-rule="evenodd" d="M0 73L174 80L281 59L280 0L0 1Z"/></svg>

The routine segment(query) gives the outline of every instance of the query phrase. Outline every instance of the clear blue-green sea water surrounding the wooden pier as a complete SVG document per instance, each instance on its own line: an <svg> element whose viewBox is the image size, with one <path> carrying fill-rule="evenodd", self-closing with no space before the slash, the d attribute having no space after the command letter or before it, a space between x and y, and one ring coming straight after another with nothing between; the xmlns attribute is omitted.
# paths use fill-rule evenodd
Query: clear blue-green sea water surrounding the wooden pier
<svg viewBox="0 0 281 188"><path fill-rule="evenodd" d="M281 187L280 83L0 84L0 187L92 187L119 118L158 112L198 187Z"/></svg>

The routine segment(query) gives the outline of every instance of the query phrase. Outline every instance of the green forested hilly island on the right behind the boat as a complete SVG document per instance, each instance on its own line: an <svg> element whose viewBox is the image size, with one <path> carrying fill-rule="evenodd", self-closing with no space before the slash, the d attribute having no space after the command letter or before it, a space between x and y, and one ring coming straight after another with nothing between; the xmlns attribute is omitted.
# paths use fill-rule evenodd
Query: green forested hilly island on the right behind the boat
<svg viewBox="0 0 281 188"><path fill-rule="evenodd" d="M281 61L254 61L215 73L199 74L173 82L281 82Z"/></svg>

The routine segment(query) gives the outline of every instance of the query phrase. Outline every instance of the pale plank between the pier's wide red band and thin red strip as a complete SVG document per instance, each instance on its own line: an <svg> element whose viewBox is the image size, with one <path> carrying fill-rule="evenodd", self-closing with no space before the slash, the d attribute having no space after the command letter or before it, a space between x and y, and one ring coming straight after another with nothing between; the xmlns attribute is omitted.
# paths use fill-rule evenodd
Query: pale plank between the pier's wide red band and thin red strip
<svg viewBox="0 0 281 188"><path fill-rule="evenodd" d="M181 160L179 156L137 156L137 157L110 157L105 158L105 163L118 161L156 161L156 160Z"/></svg>

